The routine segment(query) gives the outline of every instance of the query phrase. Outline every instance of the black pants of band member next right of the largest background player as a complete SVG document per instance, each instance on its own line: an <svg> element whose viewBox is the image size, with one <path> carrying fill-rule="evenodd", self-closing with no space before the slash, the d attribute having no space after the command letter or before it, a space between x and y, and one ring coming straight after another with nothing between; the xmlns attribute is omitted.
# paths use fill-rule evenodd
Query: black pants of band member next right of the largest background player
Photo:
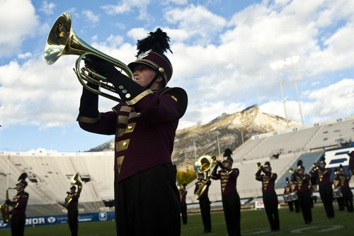
<svg viewBox="0 0 354 236"><path fill-rule="evenodd" d="M265 213L267 213L271 230L279 230L278 197L275 191L263 193Z"/></svg>

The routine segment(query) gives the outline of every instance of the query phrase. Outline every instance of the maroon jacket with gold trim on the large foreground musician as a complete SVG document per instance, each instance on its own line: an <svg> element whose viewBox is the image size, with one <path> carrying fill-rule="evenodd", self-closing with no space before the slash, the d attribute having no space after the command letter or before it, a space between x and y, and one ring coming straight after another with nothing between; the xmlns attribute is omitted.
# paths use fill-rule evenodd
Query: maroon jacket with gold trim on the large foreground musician
<svg viewBox="0 0 354 236"><path fill-rule="evenodd" d="M96 119L78 117L86 131L115 135L115 181L159 164L171 163L178 120L185 112L180 88L146 90L127 105L119 103L113 111Z"/></svg>

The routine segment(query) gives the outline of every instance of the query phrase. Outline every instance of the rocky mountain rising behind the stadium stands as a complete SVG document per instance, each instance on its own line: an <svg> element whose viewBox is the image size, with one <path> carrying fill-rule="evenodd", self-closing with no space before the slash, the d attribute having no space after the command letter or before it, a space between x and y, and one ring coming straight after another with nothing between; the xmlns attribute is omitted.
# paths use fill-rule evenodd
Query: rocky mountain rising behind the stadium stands
<svg viewBox="0 0 354 236"><path fill-rule="evenodd" d="M289 128L301 123L288 120ZM285 118L263 113L257 105L233 114L222 113L205 125L194 125L176 131L172 153L173 164L178 169L193 168L195 158L204 154L219 156L225 148L235 150L252 135L268 133L287 128ZM105 152L114 150L114 139L92 148L89 152Z"/></svg>

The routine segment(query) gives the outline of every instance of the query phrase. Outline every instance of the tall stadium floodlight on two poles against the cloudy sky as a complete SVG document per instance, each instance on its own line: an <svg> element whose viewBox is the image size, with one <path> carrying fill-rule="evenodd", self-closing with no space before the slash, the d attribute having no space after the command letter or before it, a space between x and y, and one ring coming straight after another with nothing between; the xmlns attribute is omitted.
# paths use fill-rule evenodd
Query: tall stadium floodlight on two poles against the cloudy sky
<svg viewBox="0 0 354 236"><path fill-rule="evenodd" d="M302 123L302 125L304 125L304 118L302 118L302 111L301 111L301 105L300 105L300 99L299 99L299 91L297 90L297 82L296 82L295 69L294 69L294 64L297 63L297 62L299 62L299 56L287 57L284 60L279 60L277 62L273 62L272 64L270 64L270 68L278 69L280 89L282 91L282 82L281 82L281 77L280 77L280 69L282 67L285 67L285 66L291 66L291 68L292 68L292 76L294 77L294 82L295 82L295 89L296 89L296 94L297 94L297 102L299 103L299 112L300 112L300 116L301 116L301 123ZM286 120L287 120L287 111L286 111L286 108L285 108L285 101L284 101L283 93L282 93L282 103L284 103L285 117L286 117ZM289 128L288 121L287 121L287 127Z"/></svg>

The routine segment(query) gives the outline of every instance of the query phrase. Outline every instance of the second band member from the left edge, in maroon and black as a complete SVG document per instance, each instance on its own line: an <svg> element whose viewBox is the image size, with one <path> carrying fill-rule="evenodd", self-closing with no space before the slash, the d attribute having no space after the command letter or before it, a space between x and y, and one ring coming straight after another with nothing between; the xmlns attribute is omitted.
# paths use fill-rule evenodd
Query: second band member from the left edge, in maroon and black
<svg viewBox="0 0 354 236"><path fill-rule="evenodd" d="M67 198L65 198L65 202L67 202L67 219L72 236L76 236L79 230L77 219L79 217L79 210L77 209L77 205L79 204L81 189L82 186L79 185L79 189L76 192L76 187L73 185L70 191L67 192Z"/></svg>

